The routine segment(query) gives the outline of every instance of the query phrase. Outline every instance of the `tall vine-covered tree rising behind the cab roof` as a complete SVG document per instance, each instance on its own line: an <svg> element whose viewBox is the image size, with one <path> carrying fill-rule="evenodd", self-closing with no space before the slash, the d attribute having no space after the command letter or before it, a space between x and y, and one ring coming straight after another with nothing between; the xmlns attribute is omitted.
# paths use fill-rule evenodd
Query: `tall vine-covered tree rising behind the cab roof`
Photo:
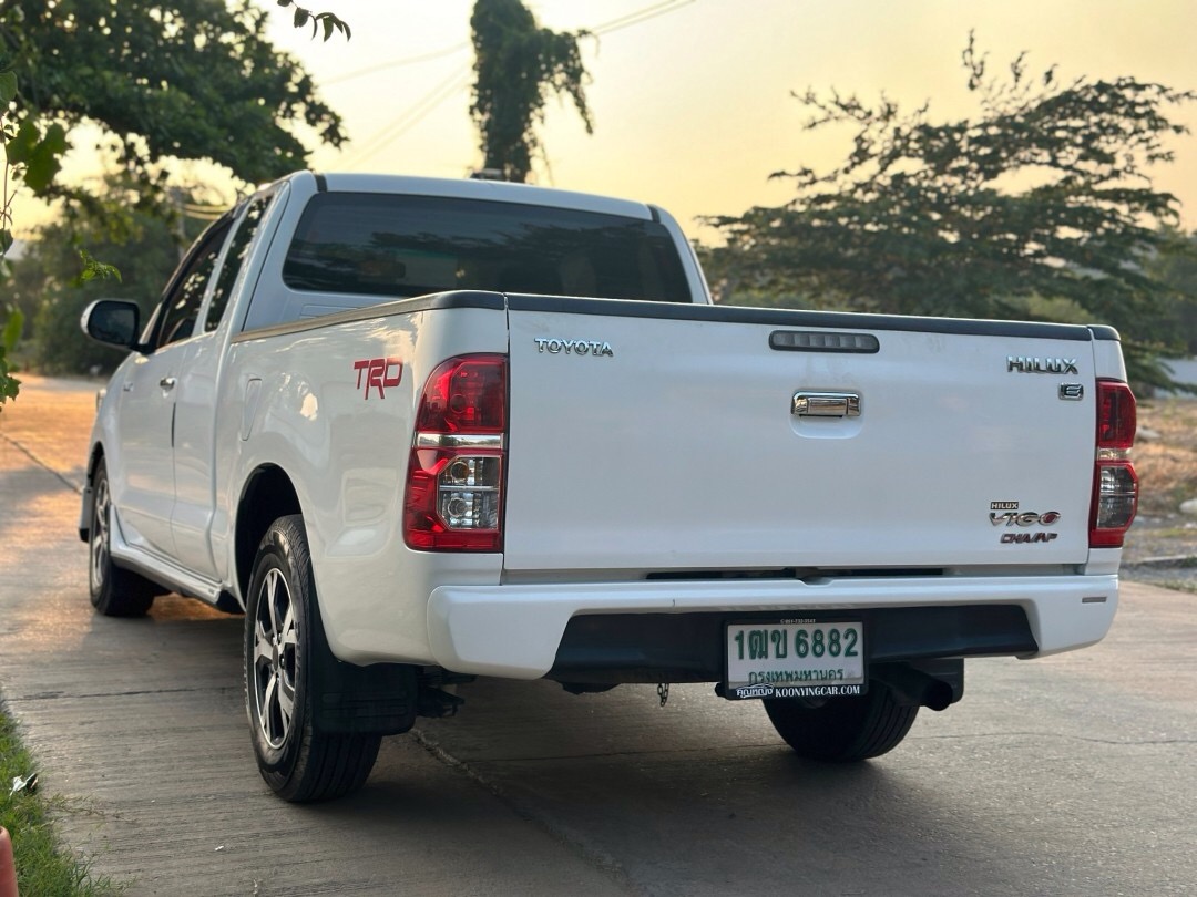
<svg viewBox="0 0 1197 897"><path fill-rule="evenodd" d="M594 129L578 50L585 32L540 28L521 0L478 0L469 25L478 75L469 111L481 135L482 166L508 181L527 181L551 93L567 96L587 133Z"/></svg>

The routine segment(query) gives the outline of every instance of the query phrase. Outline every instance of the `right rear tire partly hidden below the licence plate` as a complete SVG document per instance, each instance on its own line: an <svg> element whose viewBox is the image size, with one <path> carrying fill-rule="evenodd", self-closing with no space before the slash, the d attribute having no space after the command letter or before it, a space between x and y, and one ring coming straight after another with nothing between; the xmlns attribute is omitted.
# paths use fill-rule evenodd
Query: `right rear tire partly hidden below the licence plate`
<svg viewBox="0 0 1197 897"><path fill-rule="evenodd" d="M820 707L802 698L765 701L765 713L795 753L839 763L879 757L910 732L918 707L899 704L885 685L873 683L859 697L832 697Z"/></svg>

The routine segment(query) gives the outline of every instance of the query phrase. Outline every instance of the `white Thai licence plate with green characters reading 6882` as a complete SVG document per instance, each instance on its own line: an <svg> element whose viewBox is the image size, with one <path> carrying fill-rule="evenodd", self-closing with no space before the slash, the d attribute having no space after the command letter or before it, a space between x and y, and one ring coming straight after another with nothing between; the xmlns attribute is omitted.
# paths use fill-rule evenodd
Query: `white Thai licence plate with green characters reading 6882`
<svg viewBox="0 0 1197 897"><path fill-rule="evenodd" d="M723 696L838 697L863 695L864 623L784 620L729 623Z"/></svg>

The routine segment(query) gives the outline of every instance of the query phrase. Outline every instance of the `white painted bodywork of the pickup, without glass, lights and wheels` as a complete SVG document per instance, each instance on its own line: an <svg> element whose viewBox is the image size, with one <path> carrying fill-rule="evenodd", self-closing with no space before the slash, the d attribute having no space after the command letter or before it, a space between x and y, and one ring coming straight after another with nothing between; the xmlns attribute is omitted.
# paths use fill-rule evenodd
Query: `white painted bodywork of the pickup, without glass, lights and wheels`
<svg viewBox="0 0 1197 897"><path fill-rule="evenodd" d="M347 175L327 187L661 215L512 184ZM1108 628L1120 553L1090 553L1087 519L1094 378L1125 376L1117 342L876 330L836 316L830 329L873 332L881 350L778 352L772 330L818 329L810 322L824 318L654 317L618 300L540 311L497 298L494 307L407 303L296 325L279 313L288 303L353 310L366 300L284 286L288 234L318 184L300 173L273 189L284 201L263 220L219 329L170 349L189 366L174 371L183 415L174 444L148 413L145 432L130 432L142 417L120 410L126 384L140 395L174 361L130 358L109 386L92 444L108 459L122 562L208 600L241 599L239 504L255 472L278 469L302 508L330 646L356 664L542 676L572 616L616 611L1014 603L1040 653L1093 643ZM709 305L691 248L661 220L694 304ZM537 338L602 341L612 355L542 353ZM504 551L412 551L401 506L419 392L439 362L467 353L510 358ZM1075 358L1076 374L1063 379L1083 384L1083 399L1061 401L1059 377L1007 372L1007 355ZM402 364L384 398L357 384L354 361L372 358ZM800 420L797 390L858 393L862 414ZM1050 530L996 527L992 501L1061 519ZM156 519L166 536L151 542L139 526ZM1007 531L1058 537L1003 544ZM644 579L797 568L858 575ZM944 575L881 573L892 568Z"/></svg>

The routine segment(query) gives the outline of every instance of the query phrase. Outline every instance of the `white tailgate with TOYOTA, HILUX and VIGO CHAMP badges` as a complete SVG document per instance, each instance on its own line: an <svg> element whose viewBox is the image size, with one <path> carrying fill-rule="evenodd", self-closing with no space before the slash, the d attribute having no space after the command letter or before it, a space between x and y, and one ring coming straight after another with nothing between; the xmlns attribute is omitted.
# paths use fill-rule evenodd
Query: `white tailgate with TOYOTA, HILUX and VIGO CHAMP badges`
<svg viewBox="0 0 1197 897"><path fill-rule="evenodd" d="M1077 565L1083 327L509 298L504 566Z"/></svg>

